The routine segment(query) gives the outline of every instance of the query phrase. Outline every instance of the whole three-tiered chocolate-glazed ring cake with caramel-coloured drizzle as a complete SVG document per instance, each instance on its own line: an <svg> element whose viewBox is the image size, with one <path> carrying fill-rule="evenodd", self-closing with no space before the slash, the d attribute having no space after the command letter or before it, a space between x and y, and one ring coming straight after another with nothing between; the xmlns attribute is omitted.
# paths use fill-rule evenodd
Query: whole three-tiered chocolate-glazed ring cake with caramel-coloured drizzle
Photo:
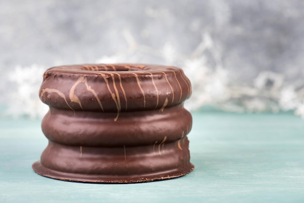
<svg viewBox="0 0 304 203"><path fill-rule="evenodd" d="M44 73L40 99L49 139L40 175L92 183L135 183L189 173L184 108L191 84L180 68L137 64L62 66Z"/></svg>

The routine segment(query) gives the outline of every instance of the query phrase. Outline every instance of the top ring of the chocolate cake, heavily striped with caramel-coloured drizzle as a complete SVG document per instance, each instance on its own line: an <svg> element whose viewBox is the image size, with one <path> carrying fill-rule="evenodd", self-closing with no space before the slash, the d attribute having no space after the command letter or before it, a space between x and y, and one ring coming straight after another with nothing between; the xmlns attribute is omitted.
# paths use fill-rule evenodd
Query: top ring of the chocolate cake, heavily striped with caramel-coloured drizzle
<svg viewBox="0 0 304 203"><path fill-rule="evenodd" d="M40 99L58 109L119 114L175 106L190 97L191 84L182 69L134 66L120 71L105 71L109 65L50 68L44 74Z"/></svg>

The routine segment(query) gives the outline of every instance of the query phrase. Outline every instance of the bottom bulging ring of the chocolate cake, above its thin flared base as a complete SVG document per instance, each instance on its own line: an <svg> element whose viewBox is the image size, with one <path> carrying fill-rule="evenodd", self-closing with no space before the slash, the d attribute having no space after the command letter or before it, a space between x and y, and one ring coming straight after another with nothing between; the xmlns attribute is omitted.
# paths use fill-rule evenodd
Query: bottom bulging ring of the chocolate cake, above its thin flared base
<svg viewBox="0 0 304 203"><path fill-rule="evenodd" d="M98 148L49 142L41 155L48 169L78 174L156 175L189 164L188 139L141 147Z"/></svg>

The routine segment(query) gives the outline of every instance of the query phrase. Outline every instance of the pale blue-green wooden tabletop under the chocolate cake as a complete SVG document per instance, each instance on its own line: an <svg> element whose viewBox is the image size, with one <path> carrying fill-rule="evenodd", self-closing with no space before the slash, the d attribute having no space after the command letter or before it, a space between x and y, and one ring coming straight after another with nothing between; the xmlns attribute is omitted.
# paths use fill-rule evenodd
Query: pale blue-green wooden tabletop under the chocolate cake
<svg viewBox="0 0 304 203"><path fill-rule="evenodd" d="M304 120L291 114L193 114L188 175L108 185L53 180L32 163L39 120L0 119L0 202L304 202Z"/></svg>

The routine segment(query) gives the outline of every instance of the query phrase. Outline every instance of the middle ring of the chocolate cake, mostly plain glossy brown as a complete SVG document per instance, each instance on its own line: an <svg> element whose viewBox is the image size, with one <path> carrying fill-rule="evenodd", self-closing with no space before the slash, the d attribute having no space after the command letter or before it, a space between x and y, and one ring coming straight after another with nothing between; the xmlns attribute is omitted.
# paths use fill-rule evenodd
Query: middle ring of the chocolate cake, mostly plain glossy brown
<svg viewBox="0 0 304 203"><path fill-rule="evenodd" d="M163 112L72 112L51 108L42 120L42 131L51 141L70 146L120 147L174 142L186 136L192 117L182 105Z"/></svg>

